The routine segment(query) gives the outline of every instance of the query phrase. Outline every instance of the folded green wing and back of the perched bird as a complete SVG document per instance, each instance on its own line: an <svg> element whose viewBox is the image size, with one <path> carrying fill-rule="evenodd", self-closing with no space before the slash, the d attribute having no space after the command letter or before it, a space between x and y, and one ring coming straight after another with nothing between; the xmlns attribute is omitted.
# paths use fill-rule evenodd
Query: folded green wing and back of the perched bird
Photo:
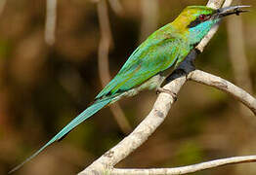
<svg viewBox="0 0 256 175"><path fill-rule="evenodd" d="M117 75L108 83L96 99L112 96L136 88L152 76L181 62L186 52L185 42L164 32L154 32L125 62Z"/></svg>

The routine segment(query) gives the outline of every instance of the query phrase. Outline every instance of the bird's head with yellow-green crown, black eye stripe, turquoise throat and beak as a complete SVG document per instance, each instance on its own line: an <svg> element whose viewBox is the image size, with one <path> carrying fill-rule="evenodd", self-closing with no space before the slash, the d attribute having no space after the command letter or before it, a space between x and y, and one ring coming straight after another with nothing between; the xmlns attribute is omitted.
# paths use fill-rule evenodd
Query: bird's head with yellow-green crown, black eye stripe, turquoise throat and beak
<svg viewBox="0 0 256 175"><path fill-rule="evenodd" d="M206 6L189 6L173 22L174 26L186 36L192 45L197 44L211 27L221 18L247 12L242 10L250 6L231 6L212 9Z"/></svg>

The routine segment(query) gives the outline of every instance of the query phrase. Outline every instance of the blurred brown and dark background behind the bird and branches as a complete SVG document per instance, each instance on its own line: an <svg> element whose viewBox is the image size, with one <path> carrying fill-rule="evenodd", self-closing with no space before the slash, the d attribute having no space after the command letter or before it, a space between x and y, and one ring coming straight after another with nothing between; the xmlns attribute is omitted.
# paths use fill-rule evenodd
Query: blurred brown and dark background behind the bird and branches
<svg viewBox="0 0 256 175"><path fill-rule="evenodd" d="M205 5L206 1L120 3L121 13L107 3L112 32L111 76L151 31L172 21L186 6ZM238 17L225 19L195 65L253 94L256 1L243 4L253 7L250 13L241 15L241 25ZM58 1L53 45L46 44L44 39L45 0L7 0L0 13L0 174L6 174L82 112L102 89L98 70L101 30L97 3L89 0ZM237 55L244 57L245 65L236 62ZM235 65L239 65L238 69L245 67L245 71L240 71L244 74L235 72ZM154 91L146 91L121 100L132 128L147 116L155 98ZM254 123L256 119L247 110L241 110L232 96L189 82L179 93L165 123L117 166L173 167L213 158L255 155ZM104 109L16 174L77 173L125 135L110 110ZM253 175L256 164L229 165L194 174Z"/></svg>

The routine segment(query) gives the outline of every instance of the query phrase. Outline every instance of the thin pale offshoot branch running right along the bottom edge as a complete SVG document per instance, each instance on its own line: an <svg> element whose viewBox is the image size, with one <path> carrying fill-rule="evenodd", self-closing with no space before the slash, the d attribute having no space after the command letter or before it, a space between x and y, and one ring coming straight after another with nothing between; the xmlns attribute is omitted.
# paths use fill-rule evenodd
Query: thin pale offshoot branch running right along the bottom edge
<svg viewBox="0 0 256 175"><path fill-rule="evenodd" d="M224 166L227 164L237 164L244 162L256 162L256 156L247 157L228 157L192 164L188 166L180 166L174 168L150 168L150 169L125 169L114 168L111 175L181 175L210 169L214 167Z"/></svg>

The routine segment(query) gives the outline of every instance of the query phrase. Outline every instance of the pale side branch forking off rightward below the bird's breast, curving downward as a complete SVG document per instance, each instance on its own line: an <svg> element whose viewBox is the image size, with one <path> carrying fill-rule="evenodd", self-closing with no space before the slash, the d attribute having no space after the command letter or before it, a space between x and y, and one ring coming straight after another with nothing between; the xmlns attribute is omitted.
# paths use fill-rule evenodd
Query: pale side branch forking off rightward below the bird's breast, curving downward
<svg viewBox="0 0 256 175"><path fill-rule="evenodd" d="M256 115L256 99L245 90L236 87L227 80L200 70L192 71L188 75L188 79L230 93L235 97L235 99L243 103L254 113L254 115Z"/></svg>

